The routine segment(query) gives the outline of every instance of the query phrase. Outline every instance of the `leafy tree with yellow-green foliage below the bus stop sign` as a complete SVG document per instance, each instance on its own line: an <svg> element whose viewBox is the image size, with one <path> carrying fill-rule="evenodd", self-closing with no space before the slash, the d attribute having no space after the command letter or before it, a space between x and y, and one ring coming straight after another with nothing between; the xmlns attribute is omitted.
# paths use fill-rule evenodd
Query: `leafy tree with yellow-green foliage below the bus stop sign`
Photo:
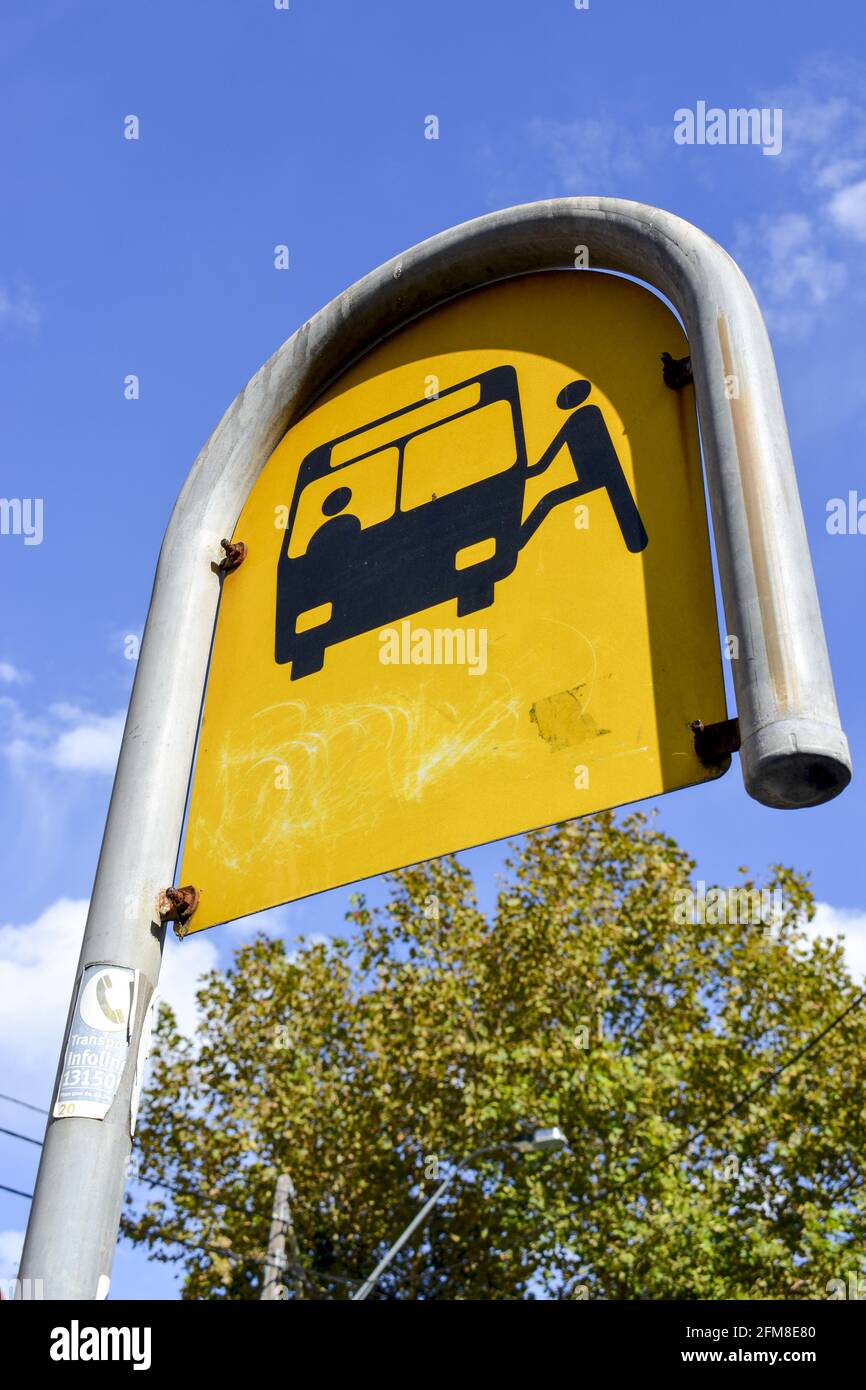
<svg viewBox="0 0 866 1390"><path fill-rule="evenodd" d="M521 838L489 920L446 858L345 938L242 947L193 1038L163 1011L126 1236L185 1297L256 1298L288 1172L288 1297L345 1298L456 1163L557 1123L460 1172L373 1297L827 1297L866 1234L859 995L801 876L767 930L726 920L755 897L694 920L692 872L607 813Z"/></svg>

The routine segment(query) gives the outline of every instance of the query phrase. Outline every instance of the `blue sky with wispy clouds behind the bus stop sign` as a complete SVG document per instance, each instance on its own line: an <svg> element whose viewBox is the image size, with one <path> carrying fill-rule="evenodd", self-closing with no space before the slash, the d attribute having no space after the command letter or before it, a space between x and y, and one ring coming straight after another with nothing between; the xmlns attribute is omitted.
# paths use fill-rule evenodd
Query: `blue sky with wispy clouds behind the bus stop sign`
<svg viewBox="0 0 866 1390"><path fill-rule="evenodd" d="M0 493L43 539L0 537L0 1090L46 1105L160 539L197 449L264 359L378 263L455 222L556 195L635 197L731 250L767 317L855 781L758 806L737 769L663 798L702 877L812 870L863 958L866 42L826 0L10 0L0 32ZM820 36L820 43L819 43ZM680 146L674 111L783 110L777 157ZM124 118L140 120L138 142ZM424 118L439 139L424 139ZM274 246L291 270L274 270ZM124 378L140 398L124 399ZM168 653L167 653L168 656ZM500 851L470 856L489 899ZM270 915L329 931L345 894ZM168 947L165 994L247 931ZM182 954L181 954L182 952ZM0 1102L0 1125L39 1116ZM0 1182L36 1150L0 1136ZM0 1193L1 1273L26 1202ZM174 1297L121 1248L115 1295Z"/></svg>

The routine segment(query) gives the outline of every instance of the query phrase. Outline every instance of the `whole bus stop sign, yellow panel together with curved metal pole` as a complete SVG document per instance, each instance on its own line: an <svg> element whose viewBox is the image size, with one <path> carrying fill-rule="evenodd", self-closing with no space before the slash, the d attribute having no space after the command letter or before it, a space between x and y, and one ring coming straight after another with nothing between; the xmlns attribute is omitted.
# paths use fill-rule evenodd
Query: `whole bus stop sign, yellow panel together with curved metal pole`
<svg viewBox="0 0 866 1390"><path fill-rule="evenodd" d="M129 1065L82 1119L64 1042L22 1284L104 1291L167 922L655 796L737 744L763 806L851 780L773 350L731 257L659 207L559 197L342 291L246 382L165 530L74 980L83 999L81 972L106 976Z"/></svg>

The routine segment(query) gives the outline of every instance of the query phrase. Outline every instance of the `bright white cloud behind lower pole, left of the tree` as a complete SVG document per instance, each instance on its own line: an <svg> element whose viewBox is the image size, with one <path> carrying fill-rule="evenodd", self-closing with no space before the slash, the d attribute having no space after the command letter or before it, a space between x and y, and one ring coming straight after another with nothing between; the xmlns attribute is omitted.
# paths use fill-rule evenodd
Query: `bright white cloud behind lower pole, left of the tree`
<svg viewBox="0 0 866 1390"><path fill-rule="evenodd" d="M42 1086L42 1097L57 1065L86 916L86 899L60 898L35 922L0 926L0 1056L7 1073ZM186 1033L195 1030L199 976L217 960L213 941L165 942L160 994ZM40 1101L33 1090L24 1098Z"/></svg>

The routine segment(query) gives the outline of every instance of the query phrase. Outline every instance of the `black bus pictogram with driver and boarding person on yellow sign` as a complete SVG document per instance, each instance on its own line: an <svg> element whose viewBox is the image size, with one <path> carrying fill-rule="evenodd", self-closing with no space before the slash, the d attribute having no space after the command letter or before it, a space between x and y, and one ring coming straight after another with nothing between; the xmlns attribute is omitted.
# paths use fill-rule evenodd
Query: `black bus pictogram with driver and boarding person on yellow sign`
<svg viewBox="0 0 866 1390"><path fill-rule="evenodd" d="M628 550L646 532L588 381L557 396L569 416L528 466L517 373L493 367L313 449L297 473L277 571L275 659L292 680L328 646L436 603L466 617L493 602L548 513L603 488ZM575 481L521 521L527 478L566 448Z"/></svg>

